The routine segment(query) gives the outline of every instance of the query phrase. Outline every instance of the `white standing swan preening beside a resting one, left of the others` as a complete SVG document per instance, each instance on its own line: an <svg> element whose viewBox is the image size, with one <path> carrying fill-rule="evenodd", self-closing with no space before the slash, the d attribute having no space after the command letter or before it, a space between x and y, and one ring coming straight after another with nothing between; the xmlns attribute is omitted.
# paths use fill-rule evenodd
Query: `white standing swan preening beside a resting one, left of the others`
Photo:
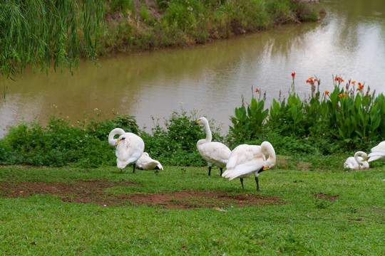
<svg viewBox="0 0 385 256"><path fill-rule="evenodd" d="M118 139L114 139L116 135L119 135ZM133 163L133 173L135 173L135 163L144 151L143 139L131 132L115 128L108 134L108 144L116 146L116 165L120 171Z"/></svg>

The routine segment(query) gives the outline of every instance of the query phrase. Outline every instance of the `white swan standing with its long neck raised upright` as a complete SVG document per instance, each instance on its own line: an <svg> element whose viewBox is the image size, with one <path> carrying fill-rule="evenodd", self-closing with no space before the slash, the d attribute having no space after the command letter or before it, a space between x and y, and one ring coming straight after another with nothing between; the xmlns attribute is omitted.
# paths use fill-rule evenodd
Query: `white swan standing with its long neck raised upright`
<svg viewBox="0 0 385 256"><path fill-rule="evenodd" d="M209 176L211 174L211 166L215 165L220 168L220 176L222 176L222 169L226 166L229 160L231 150L220 142L211 142L212 135L210 126L206 117L200 117L193 125L202 124L205 127L206 139L197 141L197 150L199 154L207 161Z"/></svg>

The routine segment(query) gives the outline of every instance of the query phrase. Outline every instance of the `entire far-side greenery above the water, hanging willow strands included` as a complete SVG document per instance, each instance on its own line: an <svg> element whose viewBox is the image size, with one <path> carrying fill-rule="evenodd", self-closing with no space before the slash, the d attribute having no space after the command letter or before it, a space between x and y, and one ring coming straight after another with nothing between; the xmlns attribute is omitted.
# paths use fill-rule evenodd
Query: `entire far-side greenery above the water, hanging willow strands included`
<svg viewBox="0 0 385 256"><path fill-rule="evenodd" d="M0 5L0 76L13 79L27 67L72 72L79 58L95 61L317 21L315 6L301 0L6 0Z"/></svg>

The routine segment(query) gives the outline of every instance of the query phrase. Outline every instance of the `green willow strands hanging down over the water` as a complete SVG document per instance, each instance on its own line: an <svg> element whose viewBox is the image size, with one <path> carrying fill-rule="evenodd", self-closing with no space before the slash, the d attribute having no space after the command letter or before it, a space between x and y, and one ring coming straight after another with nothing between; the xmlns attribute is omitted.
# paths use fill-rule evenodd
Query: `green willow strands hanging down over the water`
<svg viewBox="0 0 385 256"><path fill-rule="evenodd" d="M0 0L0 75L94 59L102 17L101 0Z"/></svg>

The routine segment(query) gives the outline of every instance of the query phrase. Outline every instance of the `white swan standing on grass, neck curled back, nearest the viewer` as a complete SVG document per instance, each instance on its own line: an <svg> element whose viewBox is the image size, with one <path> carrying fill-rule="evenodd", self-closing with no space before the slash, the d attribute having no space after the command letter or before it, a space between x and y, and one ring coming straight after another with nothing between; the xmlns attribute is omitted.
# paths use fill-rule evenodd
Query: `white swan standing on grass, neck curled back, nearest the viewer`
<svg viewBox="0 0 385 256"><path fill-rule="evenodd" d="M266 157L269 158L266 160ZM257 183L257 191L260 191L258 176L262 171L275 166L275 151L270 142L262 142L260 146L242 144L231 151L226 171L222 174L231 181L233 178L240 178L242 188L243 178L254 174Z"/></svg>

